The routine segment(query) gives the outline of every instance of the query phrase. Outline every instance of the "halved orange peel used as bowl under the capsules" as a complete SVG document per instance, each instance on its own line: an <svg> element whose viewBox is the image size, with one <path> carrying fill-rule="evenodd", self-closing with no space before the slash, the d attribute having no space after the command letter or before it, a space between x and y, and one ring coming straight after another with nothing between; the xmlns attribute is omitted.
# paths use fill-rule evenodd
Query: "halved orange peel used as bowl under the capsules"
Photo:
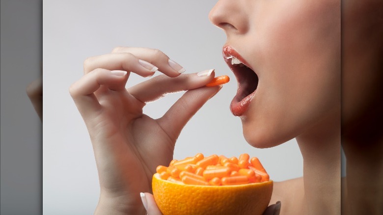
<svg viewBox="0 0 383 215"><path fill-rule="evenodd" d="M269 205L273 181L240 185L191 185L152 179L154 199L163 215L262 215Z"/></svg>

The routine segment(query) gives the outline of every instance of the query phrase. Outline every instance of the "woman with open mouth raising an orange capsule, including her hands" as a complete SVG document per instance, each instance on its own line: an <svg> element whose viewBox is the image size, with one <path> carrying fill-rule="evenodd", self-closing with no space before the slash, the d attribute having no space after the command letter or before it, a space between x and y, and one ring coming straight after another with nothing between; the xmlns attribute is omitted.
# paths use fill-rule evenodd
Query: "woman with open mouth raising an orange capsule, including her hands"
<svg viewBox="0 0 383 215"><path fill-rule="evenodd" d="M301 149L303 177L275 183L271 204L283 202L282 215L340 214L340 1L219 0L209 18L227 35L223 55L239 82L230 108L246 141L267 148L296 137ZM125 90L126 71L156 70L164 75ZM182 72L146 48L85 60L70 93L96 157L96 214L160 214L150 194L155 168L172 160L183 126L221 87L203 87L212 70ZM146 102L180 90L162 118L142 113Z"/></svg>

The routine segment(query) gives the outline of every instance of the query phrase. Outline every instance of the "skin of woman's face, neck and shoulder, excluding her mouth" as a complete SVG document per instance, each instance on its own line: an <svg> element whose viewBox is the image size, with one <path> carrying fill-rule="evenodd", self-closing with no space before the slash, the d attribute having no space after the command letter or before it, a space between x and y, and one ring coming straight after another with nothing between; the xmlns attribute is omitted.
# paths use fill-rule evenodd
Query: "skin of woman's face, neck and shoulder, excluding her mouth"
<svg viewBox="0 0 383 215"><path fill-rule="evenodd" d="M303 178L276 183L271 202L283 215L340 214L340 1L219 0L209 18L259 78L241 116L247 142L296 137L301 149Z"/></svg>

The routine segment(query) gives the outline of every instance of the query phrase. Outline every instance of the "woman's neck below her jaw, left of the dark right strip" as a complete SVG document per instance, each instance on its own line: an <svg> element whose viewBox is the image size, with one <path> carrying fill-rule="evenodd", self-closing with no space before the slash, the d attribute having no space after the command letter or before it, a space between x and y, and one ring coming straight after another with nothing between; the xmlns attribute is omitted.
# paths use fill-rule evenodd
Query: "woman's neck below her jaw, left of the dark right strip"
<svg viewBox="0 0 383 215"><path fill-rule="evenodd" d="M297 137L303 156L306 214L340 214L340 112Z"/></svg>

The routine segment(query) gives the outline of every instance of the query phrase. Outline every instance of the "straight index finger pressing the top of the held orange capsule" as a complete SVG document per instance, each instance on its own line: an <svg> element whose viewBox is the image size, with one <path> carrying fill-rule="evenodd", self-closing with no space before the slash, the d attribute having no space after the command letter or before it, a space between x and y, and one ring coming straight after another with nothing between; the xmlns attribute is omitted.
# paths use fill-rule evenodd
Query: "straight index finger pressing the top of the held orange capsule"
<svg viewBox="0 0 383 215"><path fill-rule="evenodd" d="M196 89L206 85L215 76L214 70L182 74L176 78L157 76L128 89L139 101L147 103L160 99L167 93Z"/></svg>

